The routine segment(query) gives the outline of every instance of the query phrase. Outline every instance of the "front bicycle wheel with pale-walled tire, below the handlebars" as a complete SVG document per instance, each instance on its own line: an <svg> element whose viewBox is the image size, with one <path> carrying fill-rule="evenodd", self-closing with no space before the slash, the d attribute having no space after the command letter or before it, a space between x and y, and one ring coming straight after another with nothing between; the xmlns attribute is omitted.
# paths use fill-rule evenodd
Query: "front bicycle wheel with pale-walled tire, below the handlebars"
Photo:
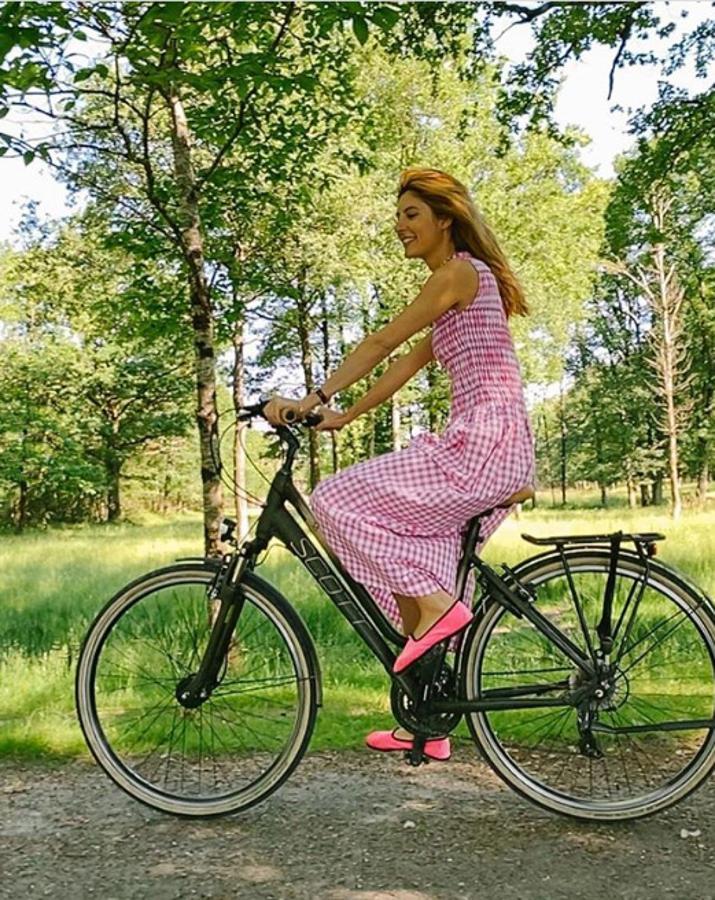
<svg viewBox="0 0 715 900"><path fill-rule="evenodd" d="M213 578L185 564L128 585L92 624L77 667L79 721L99 765L137 800L182 816L265 799L300 761L316 716L310 636L252 573L218 685L194 709L178 702L211 631Z"/></svg>

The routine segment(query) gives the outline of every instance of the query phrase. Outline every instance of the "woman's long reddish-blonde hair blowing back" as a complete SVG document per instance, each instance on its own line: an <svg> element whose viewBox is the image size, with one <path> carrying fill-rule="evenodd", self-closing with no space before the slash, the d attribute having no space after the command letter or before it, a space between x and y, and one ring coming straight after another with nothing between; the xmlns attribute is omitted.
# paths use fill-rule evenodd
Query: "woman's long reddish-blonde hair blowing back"
<svg viewBox="0 0 715 900"><path fill-rule="evenodd" d="M400 174L398 200L405 191L417 194L436 217L452 219L451 234L455 250L468 250L489 266L499 286L507 319L514 314L529 315L524 289L512 272L494 232L477 210L462 182L439 169L411 166Z"/></svg>

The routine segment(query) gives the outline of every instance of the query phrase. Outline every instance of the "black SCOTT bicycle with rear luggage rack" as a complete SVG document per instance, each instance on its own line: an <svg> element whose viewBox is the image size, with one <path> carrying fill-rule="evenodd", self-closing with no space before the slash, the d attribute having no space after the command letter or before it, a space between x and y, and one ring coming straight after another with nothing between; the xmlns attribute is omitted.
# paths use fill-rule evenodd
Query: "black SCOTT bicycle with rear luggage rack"
<svg viewBox="0 0 715 900"><path fill-rule="evenodd" d="M89 628L77 712L116 784L167 813L215 816L266 799L298 765L321 672L298 611L255 571L272 537L383 665L392 712L415 734L408 763L428 761L425 740L464 717L511 788L573 818L649 815L704 782L715 765L715 617L697 585L654 561L663 535L522 534L548 549L497 572L474 552L483 511L462 532L457 575L461 598L478 573L473 621L456 650L443 642L395 676L405 637L344 570L293 483L295 425L276 426L285 459L254 539L239 546L225 520L235 549L136 579Z"/></svg>

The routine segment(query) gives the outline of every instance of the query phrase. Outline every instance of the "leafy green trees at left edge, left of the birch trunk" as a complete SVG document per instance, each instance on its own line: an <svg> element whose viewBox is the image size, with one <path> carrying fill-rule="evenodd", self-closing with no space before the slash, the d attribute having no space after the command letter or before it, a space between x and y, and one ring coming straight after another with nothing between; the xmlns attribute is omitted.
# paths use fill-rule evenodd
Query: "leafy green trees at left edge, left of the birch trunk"
<svg viewBox="0 0 715 900"><path fill-rule="evenodd" d="M119 515L122 468L144 444L191 425L190 368L177 338L137 334L129 263L91 229L47 232L0 272L2 521Z"/></svg>

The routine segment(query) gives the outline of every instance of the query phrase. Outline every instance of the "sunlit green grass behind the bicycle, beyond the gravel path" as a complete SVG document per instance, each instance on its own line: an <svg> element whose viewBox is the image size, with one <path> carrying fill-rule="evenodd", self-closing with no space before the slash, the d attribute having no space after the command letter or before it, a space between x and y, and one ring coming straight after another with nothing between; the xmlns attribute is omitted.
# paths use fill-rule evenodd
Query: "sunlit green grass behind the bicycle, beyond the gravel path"
<svg viewBox="0 0 715 900"><path fill-rule="evenodd" d="M535 535L658 531L662 561L715 594L715 509L686 511L673 522L667 509L539 508L510 518L485 548L487 562L510 565L541 548ZM0 539L0 756L67 758L87 751L76 723L73 677L81 639L104 603L128 581L201 554L197 516L116 526L77 526L3 535ZM362 746L372 728L391 727L388 679L307 571L272 545L258 573L298 608L318 647L324 705L312 749ZM457 735L465 736L462 723Z"/></svg>

